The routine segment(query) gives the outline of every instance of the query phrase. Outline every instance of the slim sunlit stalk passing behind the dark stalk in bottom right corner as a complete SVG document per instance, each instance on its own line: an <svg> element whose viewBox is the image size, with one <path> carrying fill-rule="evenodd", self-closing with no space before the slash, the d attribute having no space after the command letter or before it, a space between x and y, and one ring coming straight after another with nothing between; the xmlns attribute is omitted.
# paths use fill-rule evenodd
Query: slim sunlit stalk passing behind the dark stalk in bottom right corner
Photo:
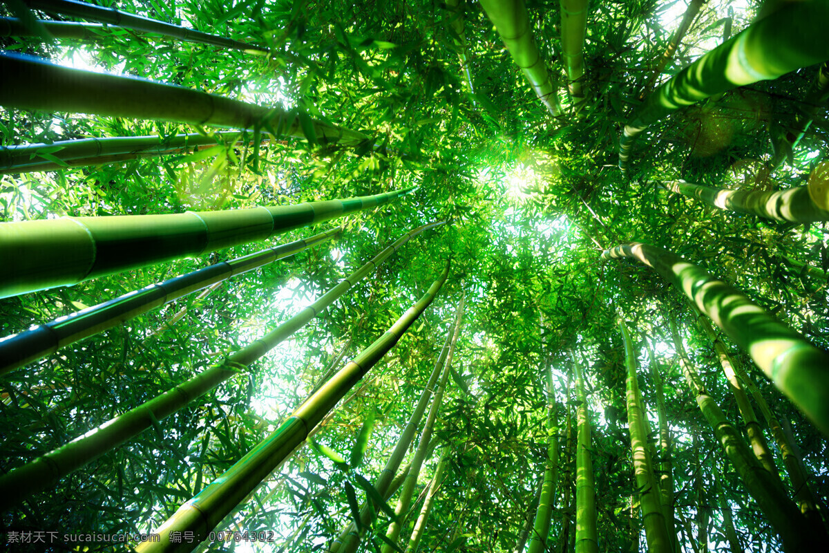
<svg viewBox="0 0 829 553"><path fill-rule="evenodd" d="M743 418L745 432L749 436L749 445L751 446L752 453L754 453L754 457L768 471L774 485L783 490L783 481L780 479L777 465L774 464L774 456L771 450L768 449L768 443L763 435L763 429L760 428L760 424L757 421L757 415L754 413L754 408L749 402L749 396L746 395L743 385L740 384L737 373L734 371L734 361L732 361L728 352L725 351L725 344L723 344L720 337L714 332L714 328L711 327L708 319L700 313L700 310L696 306L692 305L691 307L696 313L697 323L705 330L711 342L714 342L714 349L717 357L720 359L720 366L725 374L725 379L729 383L731 393L734 394L734 400L737 401L739 414Z"/></svg>

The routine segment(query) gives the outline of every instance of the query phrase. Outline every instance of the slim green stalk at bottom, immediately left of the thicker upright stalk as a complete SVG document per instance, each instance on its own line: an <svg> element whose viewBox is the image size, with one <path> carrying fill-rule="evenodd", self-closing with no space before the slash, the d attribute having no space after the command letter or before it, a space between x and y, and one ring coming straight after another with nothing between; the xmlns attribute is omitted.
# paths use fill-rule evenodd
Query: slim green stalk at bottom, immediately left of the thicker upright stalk
<svg viewBox="0 0 829 553"><path fill-rule="evenodd" d="M547 367L547 462L544 469L544 483L538 500L536 521L533 524L529 553L542 553L550 548L550 521L553 517L555 487L559 480L559 424L555 415L555 387L552 366Z"/></svg>

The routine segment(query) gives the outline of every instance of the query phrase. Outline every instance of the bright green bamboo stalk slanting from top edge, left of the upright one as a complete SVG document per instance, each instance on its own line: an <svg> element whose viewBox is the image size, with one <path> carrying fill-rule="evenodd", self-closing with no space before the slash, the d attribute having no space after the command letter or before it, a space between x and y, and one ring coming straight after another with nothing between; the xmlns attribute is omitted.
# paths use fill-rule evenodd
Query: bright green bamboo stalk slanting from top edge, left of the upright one
<svg viewBox="0 0 829 553"><path fill-rule="evenodd" d="M481 0L481 6L538 99L557 117L560 113L557 87L536 46L524 0Z"/></svg>

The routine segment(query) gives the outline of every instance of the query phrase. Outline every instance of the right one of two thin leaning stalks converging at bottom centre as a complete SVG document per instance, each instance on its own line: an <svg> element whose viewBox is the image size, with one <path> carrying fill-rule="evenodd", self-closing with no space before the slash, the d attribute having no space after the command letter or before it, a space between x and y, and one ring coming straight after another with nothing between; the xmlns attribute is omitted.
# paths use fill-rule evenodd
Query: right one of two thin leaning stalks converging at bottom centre
<svg viewBox="0 0 829 553"><path fill-rule="evenodd" d="M463 288L463 284L461 286ZM449 352L447 354L446 361L444 362L444 373L440 377L438 389L434 392L434 399L432 400L432 405L429 407L429 415L426 416L426 422L424 423L423 432L420 434L418 447L414 451L414 458L412 458L411 468L409 469L409 473L406 475L406 481L403 485L403 489L400 491L400 497L397 498L397 505L395 506L395 515L397 516L397 519L391 521L389 529L385 532L385 538L388 541L383 544L381 553L391 553L395 549L390 544L397 543L400 538L400 530L402 529L403 522L405 521L405 516L409 512L412 495L414 495L414 486L417 484L420 476L420 468L423 466L424 460L426 459L426 453L429 449L429 442L432 439L434 421L438 418L440 405L444 400L446 380L449 376L449 371L451 370L449 363L452 362L451 357L454 351L455 342L458 340L461 322L463 321L463 298L464 297L462 295L460 303L458 304L458 313L455 316L452 343L449 345ZM343 550L345 550L345 548L343 548Z"/></svg>

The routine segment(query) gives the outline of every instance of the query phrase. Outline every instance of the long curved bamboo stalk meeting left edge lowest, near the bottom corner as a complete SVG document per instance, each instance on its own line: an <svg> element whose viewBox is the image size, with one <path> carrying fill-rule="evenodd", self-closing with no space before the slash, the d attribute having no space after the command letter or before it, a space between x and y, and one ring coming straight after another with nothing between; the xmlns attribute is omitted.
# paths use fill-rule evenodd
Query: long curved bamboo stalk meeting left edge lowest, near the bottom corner
<svg viewBox="0 0 829 553"><path fill-rule="evenodd" d="M255 340L255 342L243 347L238 352L230 354L225 358L225 361L211 366L206 371L193 376L190 380L167 390L162 395L158 395L142 405L138 405L138 407L127 411L123 415L116 416L70 443L4 474L0 477L0 508L10 507L32 493L49 487L56 480L94 461L128 439L132 439L153 426L153 423L157 424L159 420L165 419L177 410L191 404L201 395L206 394L207 391L219 386L221 382L239 374L240 369L250 366L251 363L263 357L265 353L290 337L293 332L302 328L308 321L317 317L319 313L322 313L325 308L341 297L354 284L365 278L371 271L376 270L379 264L388 259L396 250L399 250L413 236L441 224L443 224L442 221L410 230L360 269L351 273L340 284L322 294L307 308L289 318L288 321L279 325L264 337ZM322 386L321 390L325 389L326 386ZM308 428L308 431L310 430L311 428Z"/></svg>

